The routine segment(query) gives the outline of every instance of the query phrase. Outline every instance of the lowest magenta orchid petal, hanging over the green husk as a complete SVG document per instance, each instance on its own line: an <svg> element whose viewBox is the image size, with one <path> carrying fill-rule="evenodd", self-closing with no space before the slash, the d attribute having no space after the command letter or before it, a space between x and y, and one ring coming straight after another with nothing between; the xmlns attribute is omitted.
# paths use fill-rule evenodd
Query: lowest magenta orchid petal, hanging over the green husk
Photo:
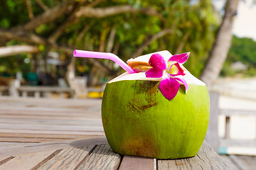
<svg viewBox="0 0 256 170"><path fill-rule="evenodd" d="M178 83L178 81L176 81L176 79L173 79L172 77L165 77L161 80L159 84L161 94L163 94L163 96L169 101L171 101L176 96L179 87L180 84Z"/></svg>

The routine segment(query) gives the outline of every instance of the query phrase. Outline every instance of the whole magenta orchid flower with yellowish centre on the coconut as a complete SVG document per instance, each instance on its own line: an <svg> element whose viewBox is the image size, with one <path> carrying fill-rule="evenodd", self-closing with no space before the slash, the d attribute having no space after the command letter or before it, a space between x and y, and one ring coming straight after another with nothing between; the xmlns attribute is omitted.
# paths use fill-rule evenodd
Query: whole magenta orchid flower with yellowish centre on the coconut
<svg viewBox="0 0 256 170"><path fill-rule="evenodd" d="M190 52L183 53L181 55L173 55L168 62L164 60L164 57L159 54L151 55L149 64L151 69L146 71L146 77L150 78L163 78L159 84L161 94L169 101L171 101L180 87L180 83L185 86L186 93L188 91L188 84L185 79L177 76L184 76L184 70L181 68L181 64L184 64L188 60Z"/></svg>

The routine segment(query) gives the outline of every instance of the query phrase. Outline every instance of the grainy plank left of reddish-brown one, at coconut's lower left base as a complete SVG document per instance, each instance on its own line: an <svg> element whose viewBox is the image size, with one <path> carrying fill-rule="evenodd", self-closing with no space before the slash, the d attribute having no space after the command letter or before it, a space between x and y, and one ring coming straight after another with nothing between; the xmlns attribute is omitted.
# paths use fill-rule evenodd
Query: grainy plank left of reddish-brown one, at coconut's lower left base
<svg viewBox="0 0 256 170"><path fill-rule="evenodd" d="M117 169L121 157L110 149L110 145L98 145L85 162L78 167L81 169Z"/></svg>

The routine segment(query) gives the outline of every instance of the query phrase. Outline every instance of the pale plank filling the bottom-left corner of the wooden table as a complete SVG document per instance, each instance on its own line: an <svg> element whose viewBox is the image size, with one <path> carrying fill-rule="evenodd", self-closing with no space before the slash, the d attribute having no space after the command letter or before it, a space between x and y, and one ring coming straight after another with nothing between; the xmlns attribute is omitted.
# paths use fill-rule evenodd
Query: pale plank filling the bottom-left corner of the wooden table
<svg viewBox="0 0 256 170"><path fill-rule="evenodd" d="M36 152L31 154L21 154L8 162L0 165L0 169L11 169L11 170L26 170L33 169L37 164L46 162L46 160L51 159L55 154L58 154L60 150L51 150L46 152Z"/></svg>

